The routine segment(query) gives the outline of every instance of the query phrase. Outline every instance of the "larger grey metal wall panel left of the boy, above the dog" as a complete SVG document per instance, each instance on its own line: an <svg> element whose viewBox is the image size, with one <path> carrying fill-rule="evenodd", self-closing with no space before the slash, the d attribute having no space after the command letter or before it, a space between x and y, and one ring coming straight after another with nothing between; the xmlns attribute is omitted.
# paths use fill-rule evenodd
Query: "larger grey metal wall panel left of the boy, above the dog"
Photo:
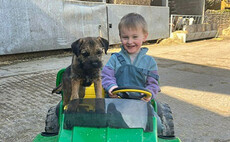
<svg viewBox="0 0 230 142"><path fill-rule="evenodd" d="M105 3L3 0L0 13L0 55L70 48L83 36L108 36Z"/></svg>

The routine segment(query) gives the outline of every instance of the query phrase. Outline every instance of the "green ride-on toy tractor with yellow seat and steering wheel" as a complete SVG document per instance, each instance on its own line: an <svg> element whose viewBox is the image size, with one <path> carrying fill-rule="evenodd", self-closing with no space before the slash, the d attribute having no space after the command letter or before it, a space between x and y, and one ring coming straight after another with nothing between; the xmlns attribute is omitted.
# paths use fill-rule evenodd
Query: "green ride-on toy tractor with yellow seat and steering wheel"
<svg viewBox="0 0 230 142"><path fill-rule="evenodd" d="M56 85L62 79L62 69L57 74ZM93 86L86 89L84 99L72 100L68 106L61 101L51 107L46 118L45 132L33 142L180 142L174 136L174 126L167 104L140 101L143 88L118 88L113 93L121 98L95 98ZM152 106L151 106L152 105ZM165 126L163 134L157 133L158 115Z"/></svg>

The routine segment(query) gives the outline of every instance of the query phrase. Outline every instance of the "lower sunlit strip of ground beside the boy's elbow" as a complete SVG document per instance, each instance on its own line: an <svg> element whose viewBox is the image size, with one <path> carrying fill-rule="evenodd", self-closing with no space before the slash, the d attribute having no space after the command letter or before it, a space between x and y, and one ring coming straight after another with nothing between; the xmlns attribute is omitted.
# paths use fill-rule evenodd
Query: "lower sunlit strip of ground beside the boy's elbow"
<svg viewBox="0 0 230 142"><path fill-rule="evenodd" d="M171 86L161 87L161 90L161 93L167 96L198 106L224 117L230 116L230 95L228 94L189 90Z"/></svg>

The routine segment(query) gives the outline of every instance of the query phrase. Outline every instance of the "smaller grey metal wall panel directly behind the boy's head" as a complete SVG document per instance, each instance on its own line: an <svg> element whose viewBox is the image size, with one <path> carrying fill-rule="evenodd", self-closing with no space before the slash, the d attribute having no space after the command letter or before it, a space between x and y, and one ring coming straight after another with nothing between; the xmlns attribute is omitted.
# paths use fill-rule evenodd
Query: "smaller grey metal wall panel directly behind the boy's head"
<svg viewBox="0 0 230 142"><path fill-rule="evenodd" d="M169 37L169 8L158 6L132 6L132 5L107 5L108 7L108 25L109 25L109 43L120 43L118 23L120 19L130 13L141 14L147 24L149 36L147 40Z"/></svg>

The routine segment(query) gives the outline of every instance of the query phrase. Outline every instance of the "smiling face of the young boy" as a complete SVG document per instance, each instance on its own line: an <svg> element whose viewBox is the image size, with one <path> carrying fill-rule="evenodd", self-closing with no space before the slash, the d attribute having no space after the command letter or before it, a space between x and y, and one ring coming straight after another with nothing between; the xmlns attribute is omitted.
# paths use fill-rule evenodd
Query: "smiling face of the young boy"
<svg viewBox="0 0 230 142"><path fill-rule="evenodd" d="M121 42L129 54L138 53L142 43L146 41L147 37L148 34L144 34L142 28L122 28L120 31Z"/></svg>

